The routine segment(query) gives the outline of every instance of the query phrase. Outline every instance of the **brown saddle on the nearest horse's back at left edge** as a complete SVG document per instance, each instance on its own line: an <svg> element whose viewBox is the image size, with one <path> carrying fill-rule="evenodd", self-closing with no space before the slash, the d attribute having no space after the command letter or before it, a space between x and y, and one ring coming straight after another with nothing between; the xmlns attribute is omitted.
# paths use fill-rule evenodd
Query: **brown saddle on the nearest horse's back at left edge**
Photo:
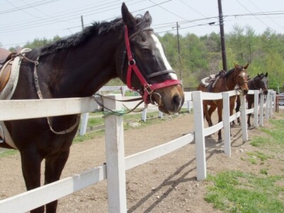
<svg viewBox="0 0 284 213"><path fill-rule="evenodd" d="M12 69L13 58L16 52L10 52L4 48L0 48L0 92L6 86Z"/></svg>

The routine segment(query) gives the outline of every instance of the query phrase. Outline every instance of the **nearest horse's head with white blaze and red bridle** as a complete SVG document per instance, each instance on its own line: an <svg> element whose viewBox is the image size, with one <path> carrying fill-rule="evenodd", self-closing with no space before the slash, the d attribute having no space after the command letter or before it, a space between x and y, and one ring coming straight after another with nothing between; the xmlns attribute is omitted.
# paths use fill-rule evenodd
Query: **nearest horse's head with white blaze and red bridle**
<svg viewBox="0 0 284 213"><path fill-rule="evenodd" d="M125 24L127 59L121 71L130 89L138 91L146 104L158 104L160 111L172 114L180 111L184 102L182 84L170 66L163 46L151 28L148 11L134 18L125 4L121 7Z"/></svg>

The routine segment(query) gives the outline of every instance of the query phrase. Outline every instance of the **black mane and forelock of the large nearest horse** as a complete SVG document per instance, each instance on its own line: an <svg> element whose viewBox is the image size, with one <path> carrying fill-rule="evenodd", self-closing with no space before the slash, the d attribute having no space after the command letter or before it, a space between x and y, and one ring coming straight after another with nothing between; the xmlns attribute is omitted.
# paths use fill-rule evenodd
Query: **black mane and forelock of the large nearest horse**
<svg viewBox="0 0 284 213"><path fill-rule="evenodd" d="M136 17L137 23L137 31L141 32L143 28L146 28L147 24L146 21L143 21L142 16ZM40 48L40 56L49 55L55 53L59 50L64 50L68 48L76 48L79 45L82 45L97 35L104 35L109 32L116 32L119 31L124 26L122 18L115 18L112 21L102 21L102 22L94 22L92 26L87 26L84 28L83 31L78 33L72 34L67 37L63 37L60 40L55 41L54 43L50 43L48 45L43 46Z"/></svg>

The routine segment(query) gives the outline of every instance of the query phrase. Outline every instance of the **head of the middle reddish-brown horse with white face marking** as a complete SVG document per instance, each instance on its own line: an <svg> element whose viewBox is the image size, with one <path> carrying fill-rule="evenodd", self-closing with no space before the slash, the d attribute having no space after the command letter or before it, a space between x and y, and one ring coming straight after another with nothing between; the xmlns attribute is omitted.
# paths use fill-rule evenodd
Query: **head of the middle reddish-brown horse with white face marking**
<svg viewBox="0 0 284 213"><path fill-rule="evenodd" d="M248 86L249 75L246 73L246 69L248 67L249 67L249 64L244 65L244 67L235 65L236 84L239 86L243 94L248 94L249 92L249 86Z"/></svg>

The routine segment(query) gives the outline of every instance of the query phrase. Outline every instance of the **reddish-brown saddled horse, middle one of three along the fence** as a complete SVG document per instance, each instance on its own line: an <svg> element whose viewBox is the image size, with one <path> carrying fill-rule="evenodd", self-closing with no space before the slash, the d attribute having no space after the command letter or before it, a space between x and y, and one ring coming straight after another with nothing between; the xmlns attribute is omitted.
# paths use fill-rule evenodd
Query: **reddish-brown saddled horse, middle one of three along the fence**
<svg viewBox="0 0 284 213"><path fill-rule="evenodd" d="M197 90L202 92L226 92L230 90L234 90L236 85L241 88L241 92L243 94L247 94L249 92L248 88L248 75L246 73L246 69L249 67L249 64L244 67L235 65L235 67L228 72L222 73L219 76L219 80L217 82L210 83L207 87L203 84L200 84L197 87ZM214 87L213 87L214 84ZM230 97L230 116L233 114L234 104L236 102L236 96ZM209 109L208 109L209 106ZM203 113L204 117L207 120L209 126L213 126L212 124L212 113L217 109L218 111L218 122L222 121L222 109L223 109L223 100L204 100L203 101ZM221 129L218 131L218 141L222 140Z"/></svg>

